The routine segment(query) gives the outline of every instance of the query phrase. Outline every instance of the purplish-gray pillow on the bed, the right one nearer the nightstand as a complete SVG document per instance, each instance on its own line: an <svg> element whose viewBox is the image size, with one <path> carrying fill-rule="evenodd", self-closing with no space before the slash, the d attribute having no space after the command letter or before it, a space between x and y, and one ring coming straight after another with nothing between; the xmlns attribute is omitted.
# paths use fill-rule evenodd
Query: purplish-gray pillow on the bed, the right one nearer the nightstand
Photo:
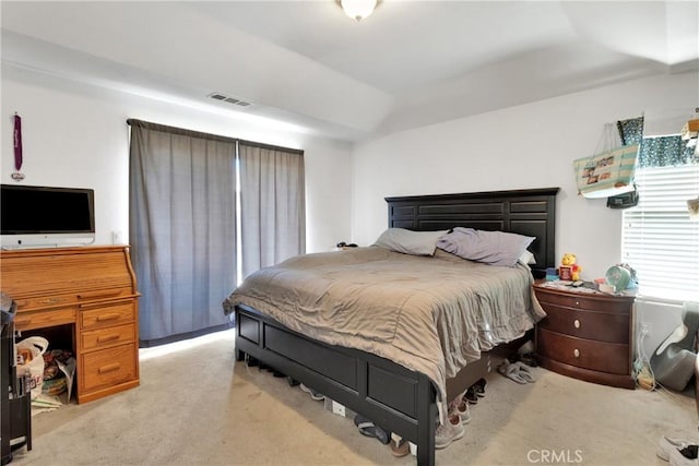
<svg viewBox="0 0 699 466"><path fill-rule="evenodd" d="M457 227L437 241L437 247L470 261L513 267L536 238L505 231Z"/></svg>

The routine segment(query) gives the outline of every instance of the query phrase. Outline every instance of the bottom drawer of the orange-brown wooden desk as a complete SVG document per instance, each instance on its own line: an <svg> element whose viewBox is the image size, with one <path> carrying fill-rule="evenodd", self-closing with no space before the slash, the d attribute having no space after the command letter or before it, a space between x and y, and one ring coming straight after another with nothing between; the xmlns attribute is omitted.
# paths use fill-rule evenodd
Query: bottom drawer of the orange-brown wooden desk
<svg viewBox="0 0 699 466"><path fill-rule="evenodd" d="M137 356L133 344L84 354L82 372L85 391L135 380Z"/></svg>

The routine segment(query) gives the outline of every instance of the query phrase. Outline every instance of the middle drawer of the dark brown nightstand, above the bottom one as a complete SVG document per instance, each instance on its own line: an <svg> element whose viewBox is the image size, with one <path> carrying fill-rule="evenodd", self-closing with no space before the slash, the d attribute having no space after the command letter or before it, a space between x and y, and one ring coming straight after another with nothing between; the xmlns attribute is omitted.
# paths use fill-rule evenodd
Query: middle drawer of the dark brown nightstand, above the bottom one
<svg viewBox="0 0 699 466"><path fill-rule="evenodd" d="M548 303L543 307L547 316L538 322L540 328L599 342L629 343L628 314L583 311Z"/></svg>

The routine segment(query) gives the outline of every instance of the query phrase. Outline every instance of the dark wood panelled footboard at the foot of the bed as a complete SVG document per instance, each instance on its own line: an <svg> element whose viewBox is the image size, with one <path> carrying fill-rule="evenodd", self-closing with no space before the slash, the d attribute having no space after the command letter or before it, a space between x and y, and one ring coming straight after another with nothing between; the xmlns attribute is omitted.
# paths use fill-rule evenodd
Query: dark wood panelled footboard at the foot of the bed
<svg viewBox="0 0 699 466"><path fill-rule="evenodd" d="M388 359L331 346L258 311L236 308L236 358L256 358L417 445L417 463L435 464L437 392L430 380Z"/></svg>

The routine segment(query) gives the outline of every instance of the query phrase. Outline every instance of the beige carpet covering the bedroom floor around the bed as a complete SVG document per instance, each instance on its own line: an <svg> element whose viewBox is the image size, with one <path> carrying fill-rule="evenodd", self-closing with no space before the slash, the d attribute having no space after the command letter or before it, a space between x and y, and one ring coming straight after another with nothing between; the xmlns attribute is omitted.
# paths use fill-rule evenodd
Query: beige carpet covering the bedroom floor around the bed
<svg viewBox="0 0 699 466"><path fill-rule="evenodd" d="M285 379L234 360L233 334L143 353L141 386L34 417L12 465L414 464L360 435ZM493 373L466 435L440 465L662 465L661 434L699 439L694 399L580 382L541 368L519 385Z"/></svg>

